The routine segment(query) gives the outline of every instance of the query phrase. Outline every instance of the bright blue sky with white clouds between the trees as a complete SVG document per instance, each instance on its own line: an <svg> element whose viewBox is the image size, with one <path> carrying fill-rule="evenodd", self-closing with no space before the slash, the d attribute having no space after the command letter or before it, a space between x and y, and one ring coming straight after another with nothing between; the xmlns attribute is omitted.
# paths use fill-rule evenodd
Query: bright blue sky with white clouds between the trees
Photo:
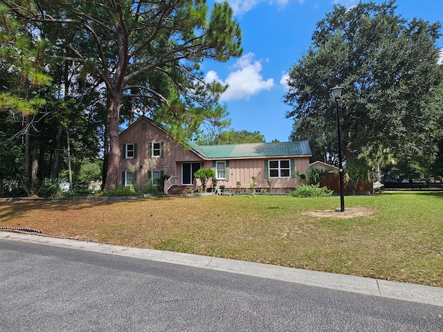
<svg viewBox="0 0 443 332"><path fill-rule="evenodd" d="M212 7L214 1L208 0ZM221 1L221 0L220 0ZM311 44L318 21L334 4L348 8L356 0L228 0L235 19L242 28L243 55L225 63L204 62L201 69L208 82L219 80L229 84L221 95L231 119L231 128L260 131L266 142L287 142L292 119L285 117L290 107L283 102L285 75ZM369 1L362 1L369 2ZM374 1L383 3L385 1ZM397 14L404 19L414 17L430 23L443 23L441 0L397 0ZM441 31L443 33L443 31ZM437 41L442 49L443 38Z"/></svg>

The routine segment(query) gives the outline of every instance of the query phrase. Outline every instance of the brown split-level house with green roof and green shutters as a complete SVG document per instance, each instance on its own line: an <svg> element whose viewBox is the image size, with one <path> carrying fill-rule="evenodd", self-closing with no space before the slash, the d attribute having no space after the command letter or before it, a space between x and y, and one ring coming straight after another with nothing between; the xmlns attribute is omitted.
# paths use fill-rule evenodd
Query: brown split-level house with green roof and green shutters
<svg viewBox="0 0 443 332"><path fill-rule="evenodd" d="M149 179L170 176L165 194L171 187L195 185L194 173L213 168L217 185L235 189L237 183L249 188L289 190L300 183L296 172L306 172L311 149L307 141L199 146L175 142L167 129L148 118L139 118L120 133L122 148L119 181L122 185L144 185Z"/></svg>

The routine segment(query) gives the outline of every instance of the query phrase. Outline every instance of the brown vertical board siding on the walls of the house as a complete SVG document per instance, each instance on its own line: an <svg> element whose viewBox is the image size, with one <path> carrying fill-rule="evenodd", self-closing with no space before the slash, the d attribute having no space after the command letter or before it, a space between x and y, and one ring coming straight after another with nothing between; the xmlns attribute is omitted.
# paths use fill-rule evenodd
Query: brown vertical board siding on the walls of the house
<svg viewBox="0 0 443 332"><path fill-rule="evenodd" d="M141 118L134 122L127 130L120 134L120 146L123 148L125 144L136 144L136 158L125 159L123 155L120 158L119 165L119 183L122 183L123 172L128 171L128 163L137 165L136 169L136 183L138 185L145 185L148 181L148 174L145 168L145 160L149 159L150 145L152 142L161 143L163 147L162 156L154 158L156 160L156 167L152 170L163 171L165 175L173 175L177 177L178 183L182 182L181 165L183 163L202 163L203 168L215 167L215 160L229 162L229 178L227 180L218 180L217 185L224 185L226 189L235 189L237 181L241 183L242 188L248 189L251 185L252 176L257 177L257 188L269 188L268 180L272 181L273 189L290 189L300 185L300 179L295 175L295 172L306 172L309 167L309 156L278 156L266 158L244 158L244 159L216 159L208 158L204 160L196 151L185 149L177 142L172 140L172 137L163 129L157 127L155 124ZM290 178L267 178L265 177L266 167L265 160L291 160L291 177ZM295 164L295 168L293 167Z"/></svg>

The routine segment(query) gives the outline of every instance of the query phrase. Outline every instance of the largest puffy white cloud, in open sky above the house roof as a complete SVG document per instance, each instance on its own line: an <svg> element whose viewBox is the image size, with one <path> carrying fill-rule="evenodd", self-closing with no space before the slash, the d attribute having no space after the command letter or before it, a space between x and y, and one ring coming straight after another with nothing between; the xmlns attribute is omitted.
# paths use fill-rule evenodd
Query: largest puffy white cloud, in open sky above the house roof
<svg viewBox="0 0 443 332"><path fill-rule="evenodd" d="M240 57L232 69L226 80L221 80L215 71L209 71L206 74L206 82L217 81L228 84L228 89L220 97L221 101L248 99L251 95L264 90L269 91L274 86L273 78L263 79L260 74L263 66L260 61L254 60L253 53Z"/></svg>

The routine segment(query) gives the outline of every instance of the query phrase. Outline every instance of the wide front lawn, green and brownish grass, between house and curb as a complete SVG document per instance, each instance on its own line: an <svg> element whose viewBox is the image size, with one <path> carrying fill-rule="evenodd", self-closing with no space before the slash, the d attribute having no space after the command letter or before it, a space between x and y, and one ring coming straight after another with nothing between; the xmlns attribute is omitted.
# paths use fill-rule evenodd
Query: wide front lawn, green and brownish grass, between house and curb
<svg viewBox="0 0 443 332"><path fill-rule="evenodd" d="M0 227L331 273L443 284L443 192L0 202Z"/></svg>

